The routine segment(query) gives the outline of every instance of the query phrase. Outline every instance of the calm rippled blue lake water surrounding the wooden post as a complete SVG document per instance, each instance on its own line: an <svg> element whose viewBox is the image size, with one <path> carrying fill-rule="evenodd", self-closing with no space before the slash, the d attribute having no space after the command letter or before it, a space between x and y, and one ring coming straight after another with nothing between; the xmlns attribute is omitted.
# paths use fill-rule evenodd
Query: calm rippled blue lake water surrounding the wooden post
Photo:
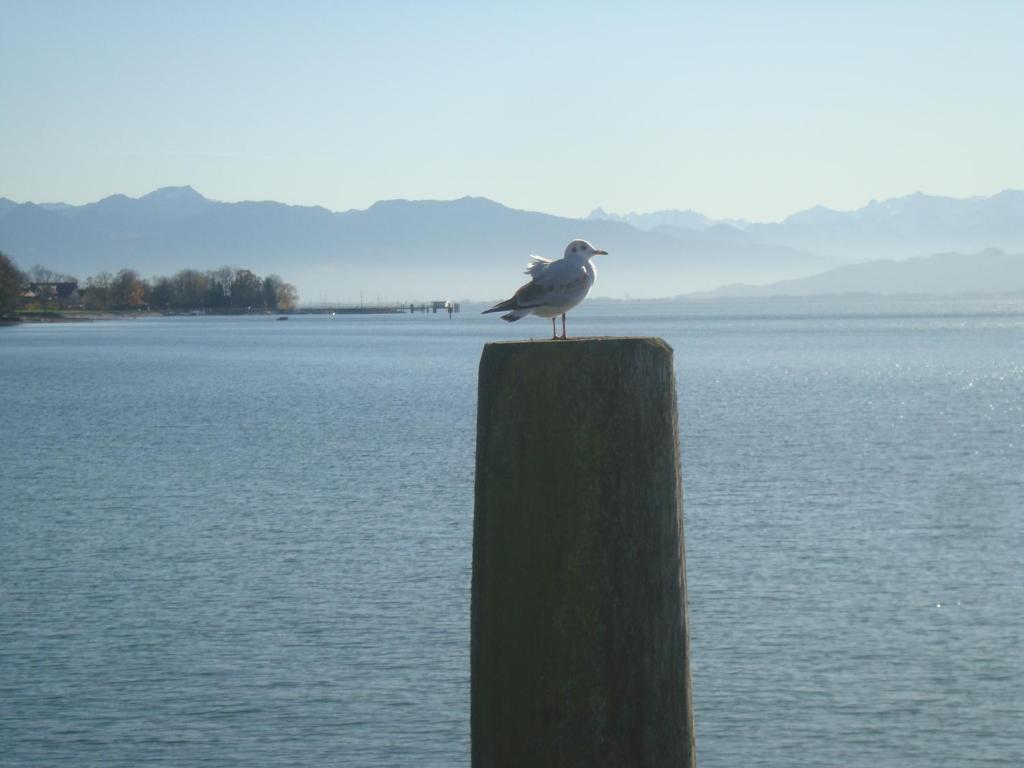
<svg viewBox="0 0 1024 768"><path fill-rule="evenodd" d="M0 765L465 766L464 312L0 329ZM1024 302L676 350L703 768L1024 764Z"/></svg>

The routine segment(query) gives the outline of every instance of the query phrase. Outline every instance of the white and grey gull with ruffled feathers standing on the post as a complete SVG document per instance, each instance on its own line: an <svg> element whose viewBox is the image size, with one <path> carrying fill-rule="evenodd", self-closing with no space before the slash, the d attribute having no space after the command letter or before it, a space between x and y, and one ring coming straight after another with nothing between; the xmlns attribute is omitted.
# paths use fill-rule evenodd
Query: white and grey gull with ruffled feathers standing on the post
<svg viewBox="0 0 1024 768"><path fill-rule="evenodd" d="M512 323L536 314L551 317L551 338L565 338L565 312L587 298L594 286L596 271L590 263L592 256L606 256L585 240L573 240L565 246L565 255L558 261L530 256L526 274L532 280L515 292L515 296L495 304L487 312L503 312L502 319ZM555 317L562 315L562 335L555 330Z"/></svg>

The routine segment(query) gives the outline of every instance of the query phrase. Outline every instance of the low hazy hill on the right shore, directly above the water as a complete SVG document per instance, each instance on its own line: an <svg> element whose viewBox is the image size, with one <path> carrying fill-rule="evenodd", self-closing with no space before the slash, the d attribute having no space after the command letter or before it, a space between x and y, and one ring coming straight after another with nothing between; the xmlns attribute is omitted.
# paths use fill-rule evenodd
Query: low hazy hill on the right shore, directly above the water
<svg viewBox="0 0 1024 768"><path fill-rule="evenodd" d="M1024 294L1024 254L988 249L899 261L848 264L766 286L731 285L705 296L817 296L829 294Z"/></svg>

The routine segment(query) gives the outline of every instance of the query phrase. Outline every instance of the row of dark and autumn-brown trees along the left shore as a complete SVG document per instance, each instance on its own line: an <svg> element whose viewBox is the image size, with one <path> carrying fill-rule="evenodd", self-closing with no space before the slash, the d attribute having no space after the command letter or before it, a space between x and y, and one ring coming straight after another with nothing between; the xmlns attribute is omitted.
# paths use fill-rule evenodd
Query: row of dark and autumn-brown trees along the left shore
<svg viewBox="0 0 1024 768"><path fill-rule="evenodd" d="M35 290L33 290L35 289ZM32 294L25 297L23 294ZM84 283L36 265L27 272L0 253L0 315L27 303L84 309L158 309L174 311L290 310L298 303L295 286L276 274L261 278L249 269L224 266L182 269L170 276L142 278L134 269L98 272Z"/></svg>

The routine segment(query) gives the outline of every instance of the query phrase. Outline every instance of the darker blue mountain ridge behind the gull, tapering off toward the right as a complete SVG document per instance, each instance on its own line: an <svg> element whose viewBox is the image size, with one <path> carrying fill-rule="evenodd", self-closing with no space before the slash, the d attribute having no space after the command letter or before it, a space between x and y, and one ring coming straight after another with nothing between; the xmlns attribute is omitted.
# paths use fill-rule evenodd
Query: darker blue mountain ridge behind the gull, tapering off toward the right
<svg viewBox="0 0 1024 768"><path fill-rule="evenodd" d="M521 211L484 198L382 201L366 210L274 202L219 203L188 186L82 206L0 202L0 250L80 278L133 268L244 266L278 272L304 301L492 299L511 294L530 253L558 258L573 238L609 252L595 295L656 297L725 282L763 282L836 262L800 249L686 237L612 220Z"/></svg>

